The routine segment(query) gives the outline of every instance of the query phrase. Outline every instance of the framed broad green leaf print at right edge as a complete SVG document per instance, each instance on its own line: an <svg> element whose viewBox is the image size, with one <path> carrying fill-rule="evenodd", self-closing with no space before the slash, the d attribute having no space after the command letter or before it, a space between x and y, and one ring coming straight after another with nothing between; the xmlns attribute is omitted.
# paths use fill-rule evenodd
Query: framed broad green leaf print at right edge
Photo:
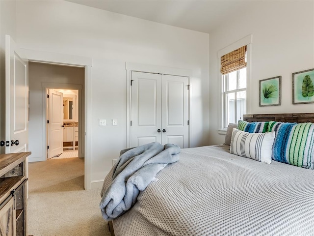
<svg viewBox="0 0 314 236"><path fill-rule="evenodd" d="M292 104L314 103L314 68L292 73Z"/></svg>

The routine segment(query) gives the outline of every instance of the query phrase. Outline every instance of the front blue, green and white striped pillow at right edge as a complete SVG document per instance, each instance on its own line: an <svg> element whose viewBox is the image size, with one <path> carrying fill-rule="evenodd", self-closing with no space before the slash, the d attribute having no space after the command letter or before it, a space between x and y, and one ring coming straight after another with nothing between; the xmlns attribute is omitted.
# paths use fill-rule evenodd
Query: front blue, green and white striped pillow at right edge
<svg viewBox="0 0 314 236"><path fill-rule="evenodd" d="M314 169L314 123L269 121L267 131L276 132L273 160Z"/></svg>

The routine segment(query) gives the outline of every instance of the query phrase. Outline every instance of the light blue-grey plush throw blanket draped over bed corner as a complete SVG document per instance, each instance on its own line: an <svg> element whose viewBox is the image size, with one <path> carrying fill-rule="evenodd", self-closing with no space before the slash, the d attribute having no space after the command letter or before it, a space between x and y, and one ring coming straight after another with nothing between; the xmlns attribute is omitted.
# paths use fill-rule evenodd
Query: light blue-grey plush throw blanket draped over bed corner
<svg viewBox="0 0 314 236"><path fill-rule="evenodd" d="M104 219L115 219L129 210L136 203L139 192L154 180L157 173L167 164L179 160L179 153L180 147L163 146L157 142L122 150L113 167L112 182L100 203Z"/></svg>

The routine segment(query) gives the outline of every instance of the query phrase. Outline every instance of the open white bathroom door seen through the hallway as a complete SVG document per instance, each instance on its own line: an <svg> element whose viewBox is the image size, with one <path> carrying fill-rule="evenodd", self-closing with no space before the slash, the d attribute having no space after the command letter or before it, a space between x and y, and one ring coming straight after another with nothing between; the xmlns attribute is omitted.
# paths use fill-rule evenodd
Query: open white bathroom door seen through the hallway
<svg viewBox="0 0 314 236"><path fill-rule="evenodd" d="M63 152L63 93L49 89L48 159Z"/></svg>

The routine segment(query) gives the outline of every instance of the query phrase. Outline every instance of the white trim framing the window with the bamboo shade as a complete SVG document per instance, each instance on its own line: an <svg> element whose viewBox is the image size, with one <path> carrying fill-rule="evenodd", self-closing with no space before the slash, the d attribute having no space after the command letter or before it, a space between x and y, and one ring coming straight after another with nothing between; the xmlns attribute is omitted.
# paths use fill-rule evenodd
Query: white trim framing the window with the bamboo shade
<svg viewBox="0 0 314 236"><path fill-rule="evenodd" d="M253 35L247 35L244 38L239 39L238 41L234 42L233 44L228 45L227 47L221 49L217 53L218 57L218 91L220 92L219 97L219 112L218 112L218 133L219 134L226 134L227 129L224 128L224 111L223 111L223 80L222 74L220 73L220 66L221 66L221 57L230 53L240 47L246 45L246 113L250 114L251 112L251 51L252 51L252 42L253 42Z"/></svg>

